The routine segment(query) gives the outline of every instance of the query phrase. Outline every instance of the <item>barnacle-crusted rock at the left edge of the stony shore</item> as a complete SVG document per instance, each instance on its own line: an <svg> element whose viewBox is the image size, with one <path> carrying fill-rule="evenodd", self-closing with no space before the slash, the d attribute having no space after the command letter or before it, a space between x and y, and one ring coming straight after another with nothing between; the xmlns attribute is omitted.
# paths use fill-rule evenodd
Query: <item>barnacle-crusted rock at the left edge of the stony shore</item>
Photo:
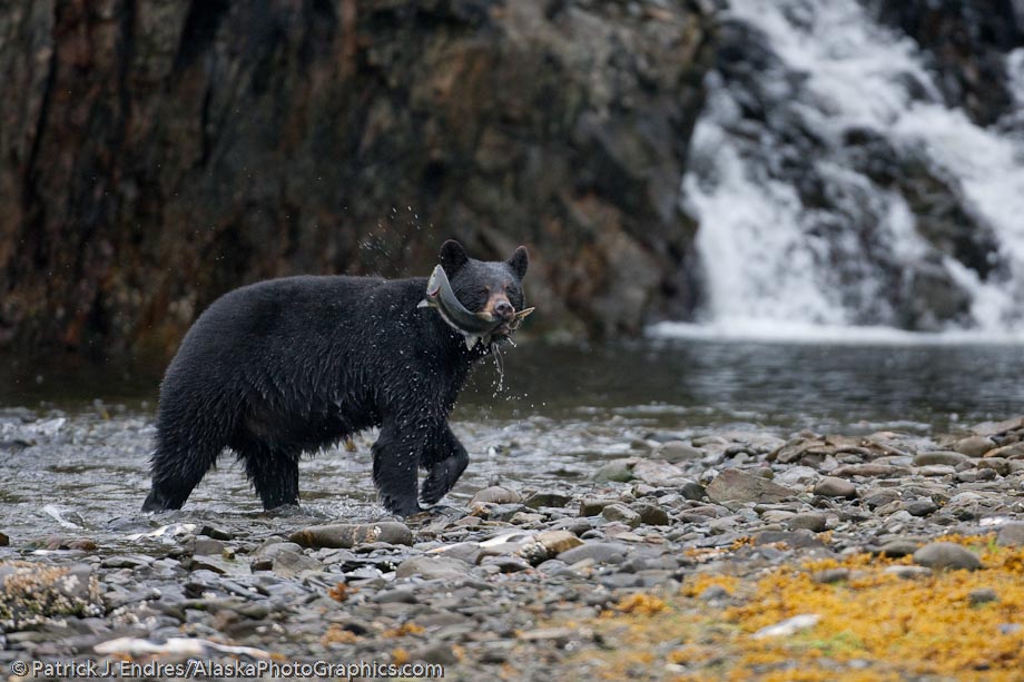
<svg viewBox="0 0 1024 682"><path fill-rule="evenodd" d="M48 617L98 616L105 611L99 581L87 564L0 562L0 629L19 630Z"/></svg>

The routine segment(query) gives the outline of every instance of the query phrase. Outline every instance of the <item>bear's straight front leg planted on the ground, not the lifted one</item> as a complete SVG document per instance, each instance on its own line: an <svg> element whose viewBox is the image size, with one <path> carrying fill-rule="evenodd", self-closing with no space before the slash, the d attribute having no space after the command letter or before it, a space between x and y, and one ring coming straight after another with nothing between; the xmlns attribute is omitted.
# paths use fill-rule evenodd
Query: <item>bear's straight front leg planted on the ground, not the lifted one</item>
<svg viewBox="0 0 1024 682"><path fill-rule="evenodd" d="M373 444L373 482L381 504L397 516L420 513L416 502L416 473L430 438L412 421L385 418Z"/></svg>

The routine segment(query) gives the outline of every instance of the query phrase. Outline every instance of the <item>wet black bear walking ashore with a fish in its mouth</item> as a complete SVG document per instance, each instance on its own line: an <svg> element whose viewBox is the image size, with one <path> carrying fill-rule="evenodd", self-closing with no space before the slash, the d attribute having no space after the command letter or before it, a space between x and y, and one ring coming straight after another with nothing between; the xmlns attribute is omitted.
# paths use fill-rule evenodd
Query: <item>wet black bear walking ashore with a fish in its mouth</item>
<svg viewBox="0 0 1024 682"><path fill-rule="evenodd" d="M372 426L381 427L373 480L384 506L420 511L421 467L419 498L436 503L469 463L449 414L473 364L524 314L526 266L524 247L481 261L457 241L442 245L449 293L500 320L480 343L424 305L423 277L287 277L225 294L164 376L142 510L180 508L225 448L265 508L297 504L301 455Z"/></svg>

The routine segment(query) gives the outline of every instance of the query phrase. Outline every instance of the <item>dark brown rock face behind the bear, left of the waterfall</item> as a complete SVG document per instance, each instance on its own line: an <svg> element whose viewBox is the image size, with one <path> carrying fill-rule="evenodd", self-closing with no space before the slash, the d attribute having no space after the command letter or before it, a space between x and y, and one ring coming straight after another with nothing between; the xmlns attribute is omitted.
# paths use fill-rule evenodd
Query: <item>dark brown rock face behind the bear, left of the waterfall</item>
<svg viewBox="0 0 1024 682"><path fill-rule="evenodd" d="M16 0L0 7L0 336L173 348L298 273L533 248L536 328L686 300L683 3Z"/></svg>

